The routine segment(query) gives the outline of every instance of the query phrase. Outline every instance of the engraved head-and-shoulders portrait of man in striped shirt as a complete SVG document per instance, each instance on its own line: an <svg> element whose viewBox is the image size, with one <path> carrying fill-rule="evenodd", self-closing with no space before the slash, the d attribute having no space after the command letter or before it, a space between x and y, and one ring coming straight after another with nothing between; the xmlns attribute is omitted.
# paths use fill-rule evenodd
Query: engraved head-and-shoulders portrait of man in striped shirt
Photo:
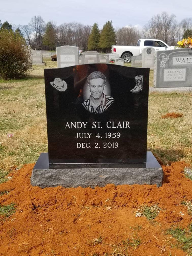
<svg viewBox="0 0 192 256"><path fill-rule="evenodd" d="M94 71L87 77L91 95L82 105L88 112L102 114L113 104L115 99L104 94L106 80L106 76L100 71Z"/></svg>

